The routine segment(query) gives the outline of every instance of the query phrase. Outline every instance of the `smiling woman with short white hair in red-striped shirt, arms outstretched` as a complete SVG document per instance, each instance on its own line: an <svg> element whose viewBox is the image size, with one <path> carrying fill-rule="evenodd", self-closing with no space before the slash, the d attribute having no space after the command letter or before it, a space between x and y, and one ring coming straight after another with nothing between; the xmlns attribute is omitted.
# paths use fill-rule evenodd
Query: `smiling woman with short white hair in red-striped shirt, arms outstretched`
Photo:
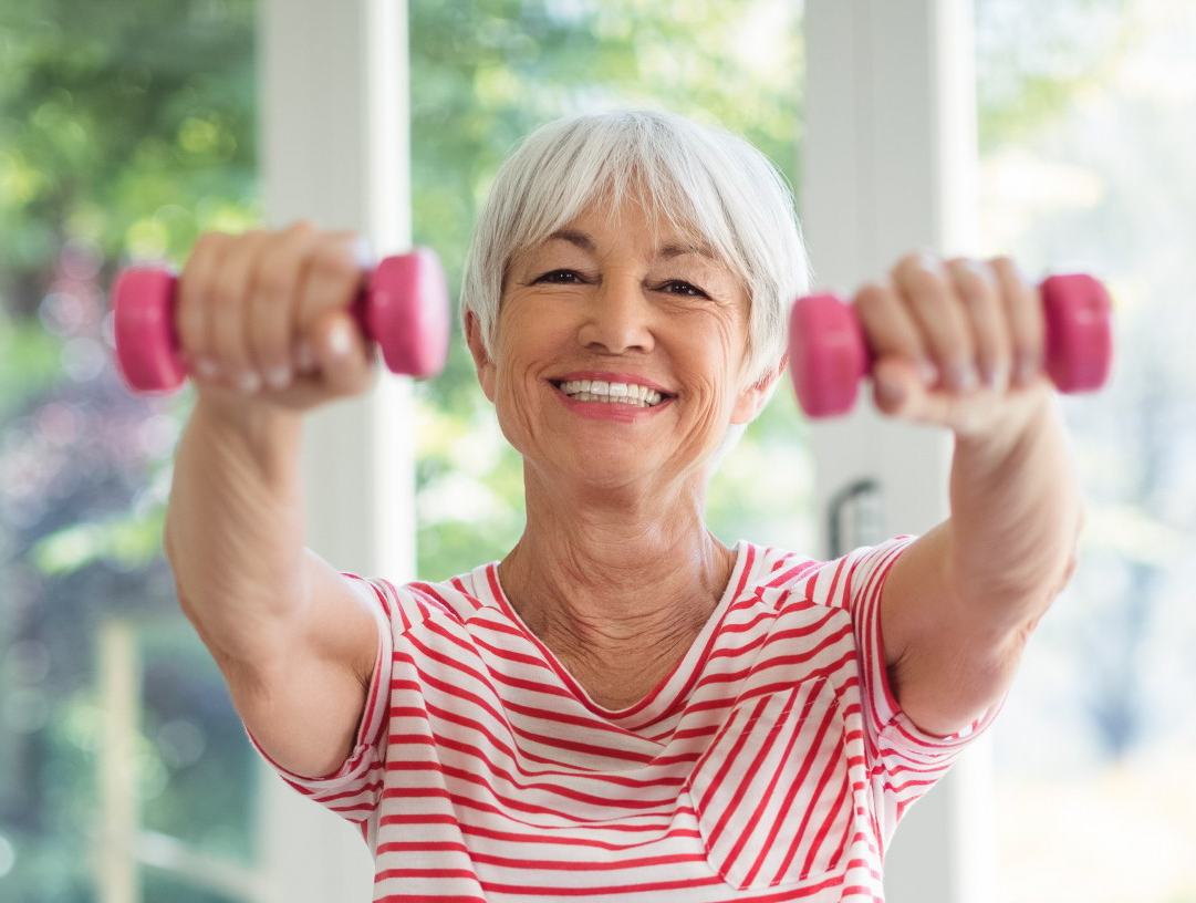
<svg viewBox="0 0 1196 903"><path fill-rule="evenodd" d="M881 899L898 819L1069 574L1033 289L1007 261L910 256L856 298L881 410L954 434L948 520L829 563L727 548L703 504L786 364L792 199L684 120L549 124L499 173L462 293L526 530L393 586L300 527L303 415L372 378L354 260L307 225L199 243L166 541L262 752L360 824L374 899Z"/></svg>

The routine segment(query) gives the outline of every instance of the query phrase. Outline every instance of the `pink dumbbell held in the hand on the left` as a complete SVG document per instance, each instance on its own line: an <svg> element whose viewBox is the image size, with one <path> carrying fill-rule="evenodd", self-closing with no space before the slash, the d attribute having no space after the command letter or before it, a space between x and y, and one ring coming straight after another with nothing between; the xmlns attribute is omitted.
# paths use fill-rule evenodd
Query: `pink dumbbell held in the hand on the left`
<svg viewBox="0 0 1196 903"><path fill-rule="evenodd" d="M175 330L177 285L161 267L130 267L112 285L116 364L135 392L172 392L187 378ZM392 373L429 377L444 367L448 287L435 252L419 248L382 260L353 315Z"/></svg>

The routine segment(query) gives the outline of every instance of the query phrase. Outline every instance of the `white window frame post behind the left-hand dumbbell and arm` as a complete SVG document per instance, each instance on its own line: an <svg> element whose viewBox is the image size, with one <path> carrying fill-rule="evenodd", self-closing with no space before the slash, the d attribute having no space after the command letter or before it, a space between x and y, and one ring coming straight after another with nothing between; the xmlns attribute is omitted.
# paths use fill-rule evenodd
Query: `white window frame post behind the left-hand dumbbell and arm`
<svg viewBox="0 0 1196 903"><path fill-rule="evenodd" d="M262 0L261 173L268 222L352 228L374 251L410 231L405 0ZM366 398L317 411L304 438L307 543L343 571L415 575L409 384L383 374ZM368 850L343 819L263 765L261 903L365 901Z"/></svg>

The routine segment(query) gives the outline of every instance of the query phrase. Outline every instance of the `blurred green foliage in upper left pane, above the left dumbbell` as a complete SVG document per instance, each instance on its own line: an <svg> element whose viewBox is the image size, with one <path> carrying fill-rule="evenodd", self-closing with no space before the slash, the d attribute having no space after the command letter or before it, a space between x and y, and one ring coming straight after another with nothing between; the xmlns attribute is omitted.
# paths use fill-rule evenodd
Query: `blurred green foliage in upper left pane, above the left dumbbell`
<svg viewBox="0 0 1196 903"><path fill-rule="evenodd" d="M110 260L178 256L201 230L245 221L252 11L0 2L0 273L44 273L72 237Z"/></svg>

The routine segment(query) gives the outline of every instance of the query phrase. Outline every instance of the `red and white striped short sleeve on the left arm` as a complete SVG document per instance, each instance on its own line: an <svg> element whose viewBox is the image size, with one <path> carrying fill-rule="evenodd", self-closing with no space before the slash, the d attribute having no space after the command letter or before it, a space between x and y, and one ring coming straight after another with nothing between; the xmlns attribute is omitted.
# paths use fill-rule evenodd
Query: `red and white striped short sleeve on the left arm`
<svg viewBox="0 0 1196 903"><path fill-rule="evenodd" d="M353 750L335 773L322 777L310 777L289 771L274 762L257 744L252 734L250 734L250 740L283 781L312 801L319 803L347 820L361 825L368 838L376 828L376 813L382 795L386 755L384 727L395 646L390 622L393 598L390 586L385 582L362 580L353 574L346 574L346 576L361 580L370 587L370 594L374 602L372 611L378 620L378 652L374 657L373 673L370 678L366 703L358 725Z"/></svg>

